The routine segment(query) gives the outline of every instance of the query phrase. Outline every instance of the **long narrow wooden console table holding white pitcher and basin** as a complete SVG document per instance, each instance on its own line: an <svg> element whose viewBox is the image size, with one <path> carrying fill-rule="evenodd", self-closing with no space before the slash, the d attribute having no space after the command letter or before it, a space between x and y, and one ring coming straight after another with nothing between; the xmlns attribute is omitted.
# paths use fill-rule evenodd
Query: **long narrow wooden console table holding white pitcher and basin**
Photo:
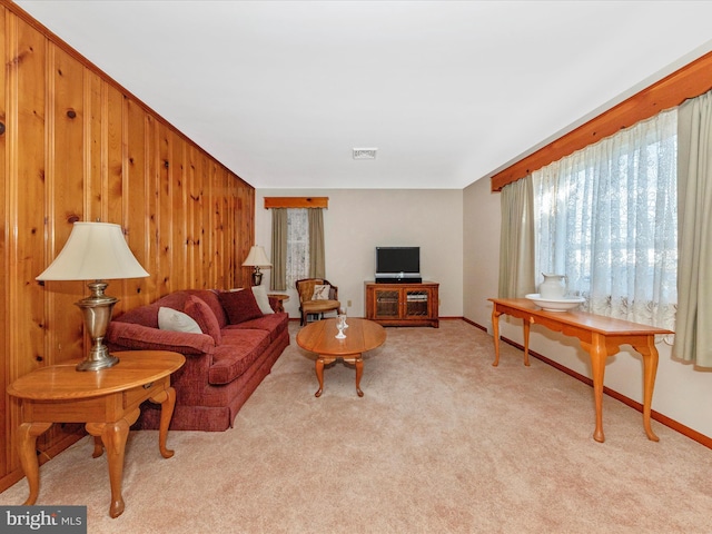
<svg viewBox="0 0 712 534"><path fill-rule="evenodd" d="M538 324L550 330L561 332L565 336L578 338L581 346L591 357L593 374L593 395L596 408L596 427L593 438L603 442L603 375L605 359L613 356L621 345L631 345L643 356L643 426L647 438L657 442L659 437L650 425L650 411L653 400L653 387L657 373L657 349L655 335L673 334L664 328L639 325L627 320L614 319L585 312L545 312L526 298L491 298L492 326L494 329L495 359L500 363L500 316L505 314L517 317L524 324L524 365L530 365L530 327Z"/></svg>

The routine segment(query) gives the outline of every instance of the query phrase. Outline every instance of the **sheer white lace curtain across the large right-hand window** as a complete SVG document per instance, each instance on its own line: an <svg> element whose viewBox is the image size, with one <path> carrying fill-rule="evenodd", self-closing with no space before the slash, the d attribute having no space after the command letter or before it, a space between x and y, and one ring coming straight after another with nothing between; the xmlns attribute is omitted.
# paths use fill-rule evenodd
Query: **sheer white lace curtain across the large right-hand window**
<svg viewBox="0 0 712 534"><path fill-rule="evenodd" d="M532 174L536 275L566 275L594 314L673 328L676 110Z"/></svg>

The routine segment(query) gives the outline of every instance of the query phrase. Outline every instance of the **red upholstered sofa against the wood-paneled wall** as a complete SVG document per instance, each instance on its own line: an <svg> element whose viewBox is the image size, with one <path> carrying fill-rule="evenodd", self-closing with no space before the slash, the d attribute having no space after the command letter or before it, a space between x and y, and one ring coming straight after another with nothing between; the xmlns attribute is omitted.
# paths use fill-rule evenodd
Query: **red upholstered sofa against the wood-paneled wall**
<svg viewBox="0 0 712 534"><path fill-rule="evenodd" d="M269 299L275 309L276 299ZM201 334L159 328L161 307L192 318ZM170 312L164 310L161 314ZM180 314L176 314L180 315ZM225 431L289 345L289 316L259 310L249 289L184 290L115 318L110 350L174 350L186 364L171 376L176 409L170 428ZM120 365L120 364L119 364ZM145 403L134 428L158 428L160 406Z"/></svg>

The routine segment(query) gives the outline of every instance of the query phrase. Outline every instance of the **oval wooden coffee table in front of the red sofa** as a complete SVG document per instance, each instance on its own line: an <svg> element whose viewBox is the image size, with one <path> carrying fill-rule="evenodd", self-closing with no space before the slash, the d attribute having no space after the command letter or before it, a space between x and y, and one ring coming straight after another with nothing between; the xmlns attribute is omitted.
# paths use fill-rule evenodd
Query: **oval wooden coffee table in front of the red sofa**
<svg viewBox="0 0 712 534"><path fill-rule="evenodd" d="M360 377L364 374L363 353L383 345L386 340L386 330L383 326L367 319L349 318L346 320L348 328L344 330L345 339L337 339L337 319L324 319L312 323L297 334L297 345L305 350L316 353L316 378L319 380L319 390L314 394L320 397L324 390L324 366L337 358L356 366L356 393L364 396L360 390Z"/></svg>

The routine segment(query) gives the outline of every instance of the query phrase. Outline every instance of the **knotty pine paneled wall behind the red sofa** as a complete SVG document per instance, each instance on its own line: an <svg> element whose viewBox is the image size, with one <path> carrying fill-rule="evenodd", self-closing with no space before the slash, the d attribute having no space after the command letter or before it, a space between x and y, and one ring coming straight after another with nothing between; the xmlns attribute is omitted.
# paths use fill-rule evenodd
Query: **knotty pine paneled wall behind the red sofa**
<svg viewBox="0 0 712 534"><path fill-rule="evenodd" d="M178 289L247 284L255 190L14 4L0 6L0 28L2 491L22 477L7 386L87 346L73 304L86 285L34 279L72 224L120 224L150 273L109 284L116 316ZM81 435L55 425L38 439L40 459Z"/></svg>

